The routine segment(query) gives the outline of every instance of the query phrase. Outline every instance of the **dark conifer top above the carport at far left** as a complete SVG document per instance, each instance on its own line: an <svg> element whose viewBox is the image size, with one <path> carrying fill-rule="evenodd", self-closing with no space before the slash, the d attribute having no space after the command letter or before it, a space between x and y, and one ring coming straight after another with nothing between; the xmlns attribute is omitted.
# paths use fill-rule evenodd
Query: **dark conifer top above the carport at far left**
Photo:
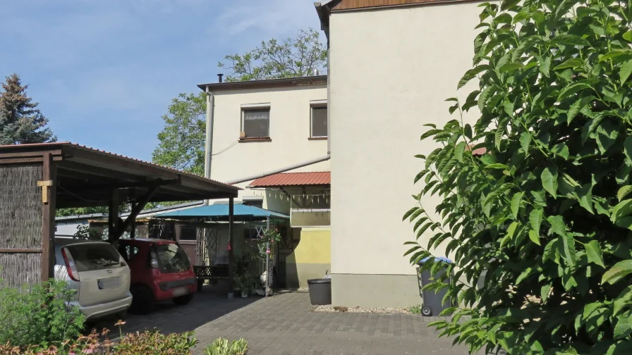
<svg viewBox="0 0 632 355"><path fill-rule="evenodd" d="M37 108L37 103L26 94L17 74L6 77L0 92L0 144L28 144L55 142L48 118Z"/></svg>

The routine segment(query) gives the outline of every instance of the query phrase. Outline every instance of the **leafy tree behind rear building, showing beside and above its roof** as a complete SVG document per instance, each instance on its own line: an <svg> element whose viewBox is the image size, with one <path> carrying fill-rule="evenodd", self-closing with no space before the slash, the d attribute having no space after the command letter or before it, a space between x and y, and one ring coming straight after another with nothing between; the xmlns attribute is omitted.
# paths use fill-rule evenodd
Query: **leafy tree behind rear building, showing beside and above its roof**
<svg viewBox="0 0 632 355"><path fill-rule="evenodd" d="M278 42L270 39L246 52L226 56L229 64L219 67L231 70L226 81L277 79L312 75L314 69L327 62L327 49L315 30L300 30L296 38ZM162 116L164 129L158 134L154 163L204 175L204 143L206 133L206 96L179 94L171 101L168 113ZM221 147L226 151L230 147ZM220 154L217 151L215 154Z"/></svg>

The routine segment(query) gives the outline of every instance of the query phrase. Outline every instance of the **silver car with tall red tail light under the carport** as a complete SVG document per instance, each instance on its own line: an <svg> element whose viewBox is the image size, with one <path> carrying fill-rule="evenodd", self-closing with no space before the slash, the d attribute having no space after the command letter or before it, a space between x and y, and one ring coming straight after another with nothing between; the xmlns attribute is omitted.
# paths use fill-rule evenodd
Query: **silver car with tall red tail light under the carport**
<svg viewBox="0 0 632 355"><path fill-rule="evenodd" d="M130 268L111 244L55 238L55 278L77 290L71 301L86 320L119 315L132 304Z"/></svg>

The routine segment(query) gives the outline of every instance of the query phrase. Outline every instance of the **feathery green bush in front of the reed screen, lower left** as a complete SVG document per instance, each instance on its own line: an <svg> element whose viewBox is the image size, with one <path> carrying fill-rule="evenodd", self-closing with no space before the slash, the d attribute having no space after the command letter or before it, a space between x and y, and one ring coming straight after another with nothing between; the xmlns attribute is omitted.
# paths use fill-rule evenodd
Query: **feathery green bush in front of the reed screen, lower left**
<svg viewBox="0 0 632 355"><path fill-rule="evenodd" d="M79 335L84 317L67 304L75 295L66 282L50 280L27 291L0 281L0 344L61 344Z"/></svg>

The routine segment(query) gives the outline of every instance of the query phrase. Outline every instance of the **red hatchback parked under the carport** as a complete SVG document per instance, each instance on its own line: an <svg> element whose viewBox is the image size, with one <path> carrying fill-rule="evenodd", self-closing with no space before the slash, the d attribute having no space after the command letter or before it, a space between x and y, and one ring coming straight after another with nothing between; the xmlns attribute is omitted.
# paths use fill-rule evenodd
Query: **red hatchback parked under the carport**
<svg viewBox="0 0 632 355"><path fill-rule="evenodd" d="M193 299L197 278L186 252L176 242L119 239L119 253L130 268L130 312L146 314L159 301L171 299L183 305Z"/></svg>

